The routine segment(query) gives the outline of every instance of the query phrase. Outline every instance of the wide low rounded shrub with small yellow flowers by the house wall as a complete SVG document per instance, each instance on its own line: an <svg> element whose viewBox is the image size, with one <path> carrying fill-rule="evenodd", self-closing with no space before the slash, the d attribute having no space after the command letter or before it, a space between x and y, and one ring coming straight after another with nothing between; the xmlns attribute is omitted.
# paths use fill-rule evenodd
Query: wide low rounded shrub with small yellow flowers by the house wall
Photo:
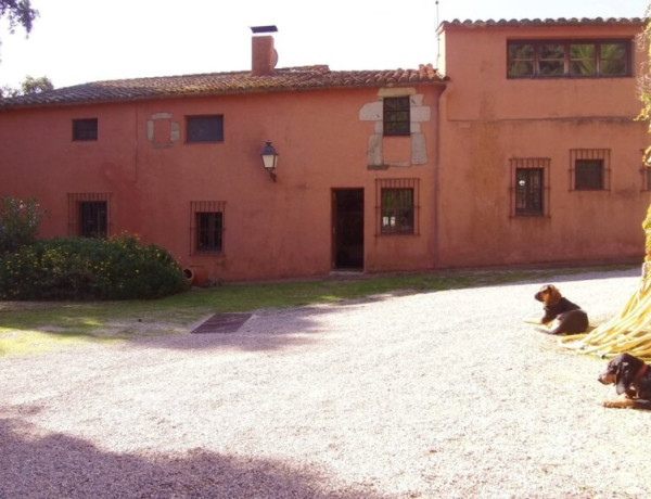
<svg viewBox="0 0 651 499"><path fill-rule="evenodd" d="M129 235L43 240L0 256L1 299L144 299L187 286L169 253Z"/></svg>

